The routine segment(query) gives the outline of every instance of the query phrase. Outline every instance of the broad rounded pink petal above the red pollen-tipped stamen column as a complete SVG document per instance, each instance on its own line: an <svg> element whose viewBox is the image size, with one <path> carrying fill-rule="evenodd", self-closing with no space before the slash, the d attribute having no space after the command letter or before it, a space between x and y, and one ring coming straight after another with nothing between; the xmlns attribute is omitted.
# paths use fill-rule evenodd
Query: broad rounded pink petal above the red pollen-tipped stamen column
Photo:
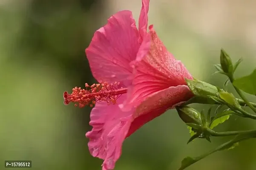
<svg viewBox="0 0 256 170"><path fill-rule="evenodd" d="M114 14L95 32L85 52L98 82L118 82L131 75L129 63L138 52L138 38L132 12L127 10Z"/></svg>

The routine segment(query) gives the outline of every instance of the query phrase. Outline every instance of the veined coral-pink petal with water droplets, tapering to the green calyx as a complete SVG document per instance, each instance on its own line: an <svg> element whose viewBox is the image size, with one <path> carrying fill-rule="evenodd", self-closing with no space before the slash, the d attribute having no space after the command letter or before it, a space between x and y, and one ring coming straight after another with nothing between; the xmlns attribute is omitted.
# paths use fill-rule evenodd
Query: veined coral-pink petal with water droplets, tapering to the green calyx
<svg viewBox="0 0 256 170"><path fill-rule="evenodd" d="M140 105L150 94L169 87L186 85L185 78L193 79L181 61L167 51L152 26L149 34L150 51L144 57L138 56L131 62L134 65L134 77L128 90L128 99L120 105L123 111Z"/></svg>

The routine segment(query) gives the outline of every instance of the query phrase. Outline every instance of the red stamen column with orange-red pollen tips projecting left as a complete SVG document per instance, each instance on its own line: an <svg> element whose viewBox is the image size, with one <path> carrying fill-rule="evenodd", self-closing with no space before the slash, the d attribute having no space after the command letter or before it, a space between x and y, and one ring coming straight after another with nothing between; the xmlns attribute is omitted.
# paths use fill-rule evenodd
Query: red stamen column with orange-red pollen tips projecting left
<svg viewBox="0 0 256 170"><path fill-rule="evenodd" d="M64 104L68 105L70 102L73 102L75 106L79 106L80 108L86 105L93 107L96 102L102 101L106 101L108 105L110 102L115 104L116 100L122 94L127 93L127 88L119 88L118 86L120 86L120 82L115 82L110 85L107 82L93 85L85 83L85 89L75 87L72 89L72 94L68 94L68 92L65 91L63 93Z"/></svg>

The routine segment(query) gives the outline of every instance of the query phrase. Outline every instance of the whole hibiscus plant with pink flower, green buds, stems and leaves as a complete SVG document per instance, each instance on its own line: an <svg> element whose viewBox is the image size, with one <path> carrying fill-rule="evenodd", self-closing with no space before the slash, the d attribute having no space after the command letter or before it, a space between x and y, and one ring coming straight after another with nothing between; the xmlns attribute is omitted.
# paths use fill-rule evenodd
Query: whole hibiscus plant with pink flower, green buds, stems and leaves
<svg viewBox="0 0 256 170"><path fill-rule="evenodd" d="M70 102L83 108L92 107L86 133L92 156L103 159L102 170L112 170L121 156L124 139L141 126L160 116L168 109L176 109L181 120L190 129L191 138L210 141L212 136L234 136L216 149L196 158L187 157L179 170L219 150L235 147L238 142L256 137L256 130L216 132L214 127L231 115L256 119L256 104L249 102L244 92L256 95L256 70L235 79L233 74L242 59L233 64L221 49L217 72L227 76L224 88L218 88L192 77L181 61L167 51L152 25L148 27L150 0L142 0L138 28L132 12L119 11L98 29L86 48L86 57L92 75L98 81L85 88L75 87L72 93L64 92L64 104ZM100 62L99 62L100 61ZM227 91L231 83L241 99ZM244 92L242 92L244 91ZM219 105L212 114L191 108L191 103ZM226 107L220 111L221 107Z"/></svg>

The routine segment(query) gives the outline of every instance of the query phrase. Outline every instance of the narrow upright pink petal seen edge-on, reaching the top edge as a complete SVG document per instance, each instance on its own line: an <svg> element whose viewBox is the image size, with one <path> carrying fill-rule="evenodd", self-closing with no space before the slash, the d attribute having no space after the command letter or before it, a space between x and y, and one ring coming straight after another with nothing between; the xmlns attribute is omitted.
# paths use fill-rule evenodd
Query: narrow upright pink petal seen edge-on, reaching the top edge
<svg viewBox="0 0 256 170"><path fill-rule="evenodd" d="M147 13L150 8L150 0L142 0L141 14L139 17L139 33L141 38L147 33L148 16Z"/></svg>

